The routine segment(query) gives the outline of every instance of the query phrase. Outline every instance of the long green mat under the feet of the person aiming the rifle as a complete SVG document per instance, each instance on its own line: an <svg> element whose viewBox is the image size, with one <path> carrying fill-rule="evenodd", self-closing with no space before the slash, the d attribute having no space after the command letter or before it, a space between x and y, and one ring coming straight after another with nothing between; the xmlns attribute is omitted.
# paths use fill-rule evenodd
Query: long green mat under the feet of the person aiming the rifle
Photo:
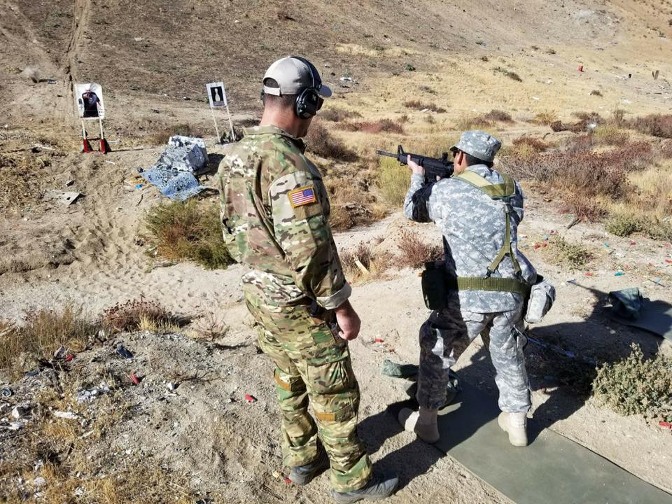
<svg viewBox="0 0 672 504"><path fill-rule="evenodd" d="M496 399L463 381L461 388L456 402L439 413L441 438L433 446L515 503L672 504L670 493L567 437L549 429L535 435L533 420L531 444L511 446L497 424ZM409 405L417 407L397 402L389 412L396 417Z"/></svg>

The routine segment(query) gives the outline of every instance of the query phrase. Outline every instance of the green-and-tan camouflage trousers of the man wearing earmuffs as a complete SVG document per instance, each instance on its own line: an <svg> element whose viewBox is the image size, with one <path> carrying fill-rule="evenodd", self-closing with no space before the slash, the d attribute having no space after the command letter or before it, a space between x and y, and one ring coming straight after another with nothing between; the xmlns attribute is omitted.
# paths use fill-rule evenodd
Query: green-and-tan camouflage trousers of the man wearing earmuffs
<svg viewBox="0 0 672 504"><path fill-rule="evenodd" d="M332 487L360 489L371 477L371 462L357 435L359 385L347 342L311 317L307 306L272 307L249 294L245 301L260 326L259 345L276 366L283 463L297 467L314 461L319 437L329 456Z"/></svg>

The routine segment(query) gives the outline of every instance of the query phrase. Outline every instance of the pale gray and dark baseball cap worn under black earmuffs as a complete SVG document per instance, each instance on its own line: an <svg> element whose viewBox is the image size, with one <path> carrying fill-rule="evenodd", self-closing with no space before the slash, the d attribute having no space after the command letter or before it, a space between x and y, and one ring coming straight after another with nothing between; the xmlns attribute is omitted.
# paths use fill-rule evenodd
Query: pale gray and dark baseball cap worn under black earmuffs
<svg viewBox="0 0 672 504"><path fill-rule="evenodd" d="M275 96L299 94L306 87L312 87L323 98L331 96L331 90L322 83L315 65L300 56L278 59L268 67L264 74L264 83L267 78L276 80L280 87L269 87L264 84L266 94Z"/></svg>

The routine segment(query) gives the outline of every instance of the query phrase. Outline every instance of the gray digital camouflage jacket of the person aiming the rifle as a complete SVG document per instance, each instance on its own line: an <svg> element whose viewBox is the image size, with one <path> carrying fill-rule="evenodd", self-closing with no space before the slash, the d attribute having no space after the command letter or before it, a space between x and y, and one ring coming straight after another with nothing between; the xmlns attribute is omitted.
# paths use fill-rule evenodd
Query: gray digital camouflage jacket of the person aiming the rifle
<svg viewBox="0 0 672 504"><path fill-rule="evenodd" d="M502 183L502 176L486 165L473 165L468 170L491 183ZM523 219L523 193L516 183L511 200L511 248L521 268L521 281L532 284L536 272L518 250L517 229ZM491 200L481 190L453 177L423 187L423 176L412 175L406 194L404 214L417 222L435 222L444 240L446 267L454 276L485 276L488 266L504 244L504 203ZM505 256L493 277L515 278L511 258ZM516 309L523 301L520 294L485 290L460 290L459 307L477 313L493 313ZM451 293L452 297L456 293Z"/></svg>

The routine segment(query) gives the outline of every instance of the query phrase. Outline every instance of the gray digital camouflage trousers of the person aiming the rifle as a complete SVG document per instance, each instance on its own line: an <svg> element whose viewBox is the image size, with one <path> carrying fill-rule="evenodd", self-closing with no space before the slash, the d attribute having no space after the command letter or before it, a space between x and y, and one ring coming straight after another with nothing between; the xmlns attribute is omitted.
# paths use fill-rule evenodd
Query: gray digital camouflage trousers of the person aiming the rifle
<svg viewBox="0 0 672 504"><path fill-rule="evenodd" d="M475 313L448 307L433 311L420 328L419 404L438 409L446 402L448 372L479 334L489 347L499 388L499 407L526 412L531 407L523 346L527 338L515 328L522 306L500 313Z"/></svg>

